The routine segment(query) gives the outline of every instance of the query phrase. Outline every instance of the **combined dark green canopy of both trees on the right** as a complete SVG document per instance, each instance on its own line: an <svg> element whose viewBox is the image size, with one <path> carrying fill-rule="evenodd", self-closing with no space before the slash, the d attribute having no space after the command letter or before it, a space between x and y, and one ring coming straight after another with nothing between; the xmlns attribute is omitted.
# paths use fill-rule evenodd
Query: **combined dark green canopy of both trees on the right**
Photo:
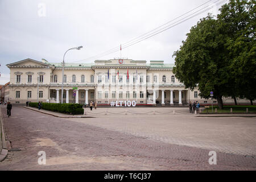
<svg viewBox="0 0 256 182"><path fill-rule="evenodd" d="M200 19L174 52L175 76L186 88L198 86L200 96L255 99L255 6L252 1L230 0L221 14Z"/></svg>

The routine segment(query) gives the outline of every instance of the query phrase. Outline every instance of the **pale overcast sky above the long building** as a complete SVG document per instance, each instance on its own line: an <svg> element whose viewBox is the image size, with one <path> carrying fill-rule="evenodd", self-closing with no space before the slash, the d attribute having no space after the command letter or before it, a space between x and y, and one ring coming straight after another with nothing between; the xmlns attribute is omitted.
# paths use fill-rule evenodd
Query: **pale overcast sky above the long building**
<svg viewBox="0 0 256 182"><path fill-rule="evenodd" d="M82 60L80 63L92 63L96 59L119 57L120 51L117 51L88 59L118 47L208 1L0 0L0 84L9 81L10 71L6 64L27 58L38 61L44 58L50 63L61 62L64 52L76 46L84 48L69 51L65 56L68 63L79 60ZM215 1L206 5L211 7ZM122 57L174 63L172 55L186 39L190 28L208 13L217 15L221 5L150 39L122 48Z"/></svg>

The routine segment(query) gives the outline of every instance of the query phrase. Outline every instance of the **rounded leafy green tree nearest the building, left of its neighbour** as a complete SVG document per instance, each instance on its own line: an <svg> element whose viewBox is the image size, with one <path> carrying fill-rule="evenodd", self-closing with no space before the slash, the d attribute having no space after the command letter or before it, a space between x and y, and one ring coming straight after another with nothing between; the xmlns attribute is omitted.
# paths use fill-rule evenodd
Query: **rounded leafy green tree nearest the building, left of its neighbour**
<svg viewBox="0 0 256 182"><path fill-rule="evenodd" d="M208 15L193 26L183 46L174 53L175 76L186 88L198 86L203 98L214 92L222 109L222 96L229 95L231 61L226 59L225 27Z"/></svg>

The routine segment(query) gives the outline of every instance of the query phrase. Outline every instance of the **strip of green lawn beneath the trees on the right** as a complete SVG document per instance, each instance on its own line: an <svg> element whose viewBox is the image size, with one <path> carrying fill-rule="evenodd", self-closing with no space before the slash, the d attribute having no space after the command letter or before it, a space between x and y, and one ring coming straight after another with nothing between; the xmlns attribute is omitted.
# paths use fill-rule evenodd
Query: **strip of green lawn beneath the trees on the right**
<svg viewBox="0 0 256 182"><path fill-rule="evenodd" d="M246 108L248 108L248 113L256 113L256 105L226 105L223 106L223 109L213 106L213 113L216 108L217 113L230 113L230 108L232 108L232 113L246 113ZM207 108L202 113L207 113ZM208 108L208 113L212 113L212 106Z"/></svg>

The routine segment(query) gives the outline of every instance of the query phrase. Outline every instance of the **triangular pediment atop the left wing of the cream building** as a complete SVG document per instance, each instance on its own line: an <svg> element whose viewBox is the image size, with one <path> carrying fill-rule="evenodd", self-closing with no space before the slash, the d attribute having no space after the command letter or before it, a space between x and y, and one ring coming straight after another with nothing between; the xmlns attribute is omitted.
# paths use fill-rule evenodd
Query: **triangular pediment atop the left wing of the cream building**
<svg viewBox="0 0 256 182"><path fill-rule="evenodd" d="M17 61L15 63L7 64L6 66L8 68L12 68L12 67L18 67L18 68L20 68L20 67L26 67L26 68L38 67L38 68L41 68L41 67L51 67L51 64L46 64L41 61L36 61L33 59L24 59L21 61Z"/></svg>

